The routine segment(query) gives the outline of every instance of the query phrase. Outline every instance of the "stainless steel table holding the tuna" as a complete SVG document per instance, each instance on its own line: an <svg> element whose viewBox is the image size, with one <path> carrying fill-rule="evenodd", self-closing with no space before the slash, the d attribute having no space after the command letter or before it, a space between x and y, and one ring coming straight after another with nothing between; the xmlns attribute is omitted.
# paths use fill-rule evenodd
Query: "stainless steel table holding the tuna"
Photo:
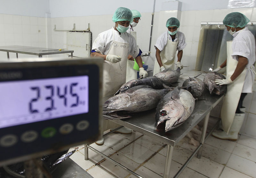
<svg viewBox="0 0 256 178"><path fill-rule="evenodd" d="M180 84L182 85L182 83L183 83L183 80L180 80L179 85ZM110 96L104 97L103 102L106 101L109 97ZM178 177L180 175L180 173L182 172L182 170L185 169L185 167L188 165L189 161L194 157L194 155L196 153L197 153L197 158L201 158L210 112L223 99L223 97L224 97L224 95L220 95L220 96L210 95L209 91L207 89L205 89L203 95L199 98L199 100L195 101L196 102L195 109L192 112L191 116L182 125L180 125L179 127L175 128L171 131L168 131L166 133L164 131L160 131L160 130L156 129L156 121L155 121L156 109L152 109L152 110L146 111L146 112L130 114L132 116L132 118L122 119L122 120L111 120L111 121L118 123L124 127L131 128L132 130L140 132L144 135L148 135L148 136L150 136L158 141L161 141L163 143L166 143L168 145L168 147L167 147L167 155L166 155L165 168L164 168L164 178L168 178L170 176L173 147L184 136L186 136L188 134L188 132L190 132L191 129L196 126L196 124L198 124L201 120L203 120L205 118L200 145L197 147L196 151L191 155L191 157L188 159L188 161L181 167L180 171L175 175L175 177ZM216 124L216 126L217 126L217 124ZM115 131L115 130L113 130L113 131ZM113 131L111 131L111 132L113 132ZM208 136L210 135L210 133L208 134ZM108 135L108 134L105 134L105 135ZM95 151L95 149L92 148L90 145L86 145L85 160L88 160L88 148ZM97 152L97 150L95 152ZM97 153L100 154L99 151ZM101 156L103 156L105 158L107 157L104 154L101 154ZM106 159L109 160L110 158L107 157ZM130 172L131 170L126 170L126 171ZM136 176L138 176L138 175L136 175ZM138 177L140 177L140 176L138 176Z"/></svg>

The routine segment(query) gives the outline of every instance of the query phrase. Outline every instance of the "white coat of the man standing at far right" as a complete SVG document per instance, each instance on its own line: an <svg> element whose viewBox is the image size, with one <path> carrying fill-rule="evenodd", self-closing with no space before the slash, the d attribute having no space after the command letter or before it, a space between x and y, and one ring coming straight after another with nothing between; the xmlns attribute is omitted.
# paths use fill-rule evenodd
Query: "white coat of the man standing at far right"
<svg viewBox="0 0 256 178"><path fill-rule="evenodd" d="M255 38L248 30L248 27L245 27L243 30L239 30L233 34L233 36L234 39L232 43L232 58L238 61L237 55L239 55L248 59L248 64L246 66L248 70L246 71L242 93L252 93L253 82L255 79L255 74L253 73L253 64L256 60Z"/></svg>

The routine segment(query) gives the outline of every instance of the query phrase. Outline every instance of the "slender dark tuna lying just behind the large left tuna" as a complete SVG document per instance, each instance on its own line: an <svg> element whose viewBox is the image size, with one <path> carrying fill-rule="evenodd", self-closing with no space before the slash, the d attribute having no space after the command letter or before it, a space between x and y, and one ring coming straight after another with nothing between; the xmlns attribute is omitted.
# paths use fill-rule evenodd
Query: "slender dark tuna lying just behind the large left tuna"
<svg viewBox="0 0 256 178"><path fill-rule="evenodd" d="M138 85L148 85L151 86L153 89L162 89L163 83L167 86L171 85L171 83L165 82L160 78L157 77L146 77L137 80L130 80L124 83L120 89L115 93L115 95L125 92L127 89L130 89L134 86Z"/></svg>

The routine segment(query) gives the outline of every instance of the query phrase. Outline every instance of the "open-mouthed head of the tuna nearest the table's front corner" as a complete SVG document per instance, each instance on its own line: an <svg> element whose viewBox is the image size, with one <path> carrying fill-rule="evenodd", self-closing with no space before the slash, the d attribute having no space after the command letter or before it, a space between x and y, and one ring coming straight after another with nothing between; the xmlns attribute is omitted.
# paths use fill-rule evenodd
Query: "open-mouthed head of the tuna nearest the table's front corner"
<svg viewBox="0 0 256 178"><path fill-rule="evenodd" d="M184 106L179 102L169 101L158 113L156 128L165 130L165 132L178 127L181 123L179 120L185 112ZM156 113L157 114L157 113Z"/></svg>

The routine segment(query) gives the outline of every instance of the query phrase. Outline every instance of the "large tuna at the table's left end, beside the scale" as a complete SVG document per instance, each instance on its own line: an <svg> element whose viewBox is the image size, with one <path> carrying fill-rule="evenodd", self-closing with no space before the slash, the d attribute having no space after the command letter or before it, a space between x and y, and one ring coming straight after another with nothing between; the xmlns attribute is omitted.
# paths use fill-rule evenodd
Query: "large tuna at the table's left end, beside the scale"
<svg viewBox="0 0 256 178"><path fill-rule="evenodd" d="M142 112L156 107L158 101L170 89L152 89L147 85L139 85L124 93L110 97L103 104L104 119L124 119L130 117L126 113ZM120 113L122 111L123 113Z"/></svg>

